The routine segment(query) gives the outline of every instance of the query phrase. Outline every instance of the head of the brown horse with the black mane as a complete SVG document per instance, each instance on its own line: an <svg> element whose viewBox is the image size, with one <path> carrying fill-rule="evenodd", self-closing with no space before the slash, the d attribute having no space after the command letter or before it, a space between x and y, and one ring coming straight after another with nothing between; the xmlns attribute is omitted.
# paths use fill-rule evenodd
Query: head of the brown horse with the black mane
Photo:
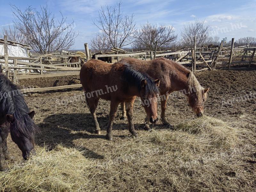
<svg viewBox="0 0 256 192"><path fill-rule="evenodd" d="M141 90L140 90L140 98L143 107L147 113L148 119L150 123L155 124L158 121L157 117L157 97L158 97L158 89L160 84L160 79L156 79L153 81L153 85L147 82L146 79L141 81ZM156 92L151 92L150 89L157 90Z"/></svg>

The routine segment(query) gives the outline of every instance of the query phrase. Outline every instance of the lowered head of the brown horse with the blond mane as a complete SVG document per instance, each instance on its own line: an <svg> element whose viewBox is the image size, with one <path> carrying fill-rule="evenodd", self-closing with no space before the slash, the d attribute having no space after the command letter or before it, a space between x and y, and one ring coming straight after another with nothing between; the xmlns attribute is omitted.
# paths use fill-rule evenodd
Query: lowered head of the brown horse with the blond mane
<svg viewBox="0 0 256 192"><path fill-rule="evenodd" d="M188 95L189 105L193 108L193 111L198 117L203 116L204 114L204 102L206 101L209 89L210 88L203 88L201 93L192 92Z"/></svg>

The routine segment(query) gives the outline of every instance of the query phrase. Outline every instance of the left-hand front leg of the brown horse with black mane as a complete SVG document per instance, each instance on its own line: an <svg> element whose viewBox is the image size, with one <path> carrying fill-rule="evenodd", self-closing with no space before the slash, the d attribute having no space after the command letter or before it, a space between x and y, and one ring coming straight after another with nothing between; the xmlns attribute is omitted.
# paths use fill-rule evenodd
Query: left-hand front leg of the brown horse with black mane
<svg viewBox="0 0 256 192"><path fill-rule="evenodd" d="M107 127L107 140L113 140L113 132L112 132L112 126L113 126L113 121L116 117L116 111L118 108L120 102L112 100L110 103L110 112L109 112L109 121L108 121L108 127Z"/></svg>

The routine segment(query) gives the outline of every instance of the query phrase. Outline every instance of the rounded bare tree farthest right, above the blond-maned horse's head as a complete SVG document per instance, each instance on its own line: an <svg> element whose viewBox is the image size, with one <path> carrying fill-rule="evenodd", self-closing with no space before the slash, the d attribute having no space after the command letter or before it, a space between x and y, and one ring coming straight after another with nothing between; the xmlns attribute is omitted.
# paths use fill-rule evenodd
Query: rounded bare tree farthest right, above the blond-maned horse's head
<svg viewBox="0 0 256 192"><path fill-rule="evenodd" d="M184 46L194 46L194 36L196 36L196 45L202 46L210 36L211 25L206 24L204 20L195 19L195 23L183 26L180 32L181 40Z"/></svg>

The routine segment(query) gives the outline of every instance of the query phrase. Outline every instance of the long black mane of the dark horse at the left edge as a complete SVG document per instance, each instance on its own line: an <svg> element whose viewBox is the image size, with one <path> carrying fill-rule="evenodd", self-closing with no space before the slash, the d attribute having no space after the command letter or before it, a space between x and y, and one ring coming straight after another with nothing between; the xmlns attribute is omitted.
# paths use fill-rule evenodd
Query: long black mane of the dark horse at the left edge
<svg viewBox="0 0 256 192"><path fill-rule="evenodd" d="M0 113L2 118L7 115L14 116L15 126L12 131L18 135L28 137L31 132L36 131L37 126L28 115L29 108L20 92L20 89L0 73Z"/></svg>

